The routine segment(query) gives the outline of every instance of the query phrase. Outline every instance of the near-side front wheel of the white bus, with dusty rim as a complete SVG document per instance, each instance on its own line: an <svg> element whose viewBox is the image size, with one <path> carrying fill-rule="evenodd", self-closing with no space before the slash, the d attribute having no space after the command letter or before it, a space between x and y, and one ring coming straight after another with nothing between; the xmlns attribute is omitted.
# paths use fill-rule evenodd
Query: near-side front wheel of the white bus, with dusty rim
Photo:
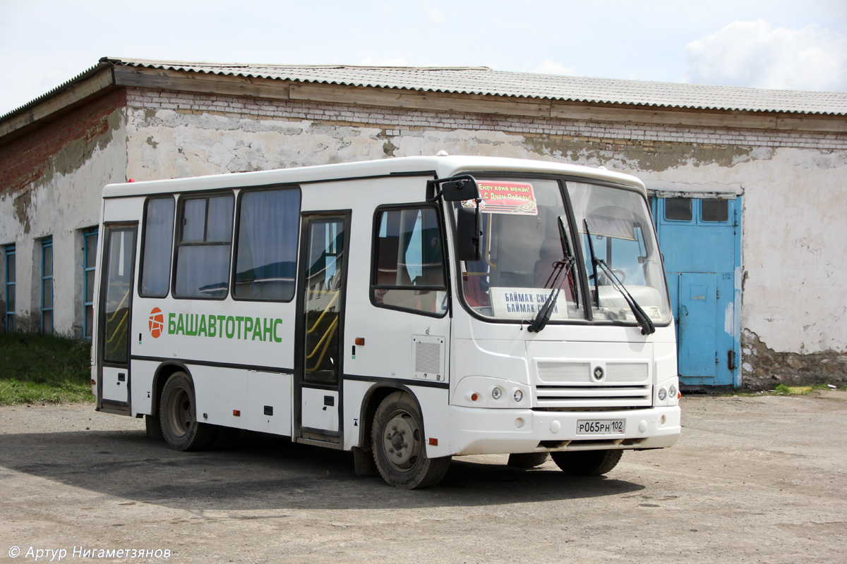
<svg viewBox="0 0 847 564"><path fill-rule="evenodd" d="M428 458L418 406L406 392L394 392L379 404L371 430L371 451L379 474L401 490L438 484L451 457Z"/></svg>

